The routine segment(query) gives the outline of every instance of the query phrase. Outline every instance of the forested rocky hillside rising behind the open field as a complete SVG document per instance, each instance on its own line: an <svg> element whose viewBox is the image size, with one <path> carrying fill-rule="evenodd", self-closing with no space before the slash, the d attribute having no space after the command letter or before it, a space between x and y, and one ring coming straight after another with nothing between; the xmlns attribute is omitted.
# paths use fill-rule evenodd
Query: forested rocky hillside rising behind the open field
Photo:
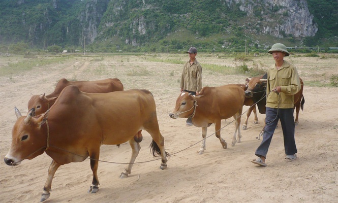
<svg viewBox="0 0 338 203"><path fill-rule="evenodd" d="M338 46L338 2L3 0L0 44L152 51Z"/></svg>

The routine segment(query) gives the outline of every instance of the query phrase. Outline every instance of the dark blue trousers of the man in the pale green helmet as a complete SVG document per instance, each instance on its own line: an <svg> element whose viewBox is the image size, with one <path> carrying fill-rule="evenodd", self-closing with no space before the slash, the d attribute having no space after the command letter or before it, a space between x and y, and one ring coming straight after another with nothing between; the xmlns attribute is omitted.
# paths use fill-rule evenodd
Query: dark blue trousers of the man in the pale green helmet
<svg viewBox="0 0 338 203"><path fill-rule="evenodd" d="M266 124L263 133L263 140L255 152L258 157L264 156L266 158L266 154L269 149L273 132L277 126L278 120L281 120L281 125L283 129L285 154L293 155L297 153L293 112L294 108L273 109L266 107Z"/></svg>

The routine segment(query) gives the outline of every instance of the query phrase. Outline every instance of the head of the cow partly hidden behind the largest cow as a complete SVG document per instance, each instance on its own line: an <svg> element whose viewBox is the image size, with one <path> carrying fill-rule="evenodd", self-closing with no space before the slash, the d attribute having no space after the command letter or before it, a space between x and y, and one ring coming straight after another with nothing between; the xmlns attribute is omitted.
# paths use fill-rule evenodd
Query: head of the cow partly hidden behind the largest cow
<svg viewBox="0 0 338 203"><path fill-rule="evenodd" d="M35 108L36 115L43 114L55 103L56 99L57 97L47 98L45 93L33 95L28 101L28 110Z"/></svg>

